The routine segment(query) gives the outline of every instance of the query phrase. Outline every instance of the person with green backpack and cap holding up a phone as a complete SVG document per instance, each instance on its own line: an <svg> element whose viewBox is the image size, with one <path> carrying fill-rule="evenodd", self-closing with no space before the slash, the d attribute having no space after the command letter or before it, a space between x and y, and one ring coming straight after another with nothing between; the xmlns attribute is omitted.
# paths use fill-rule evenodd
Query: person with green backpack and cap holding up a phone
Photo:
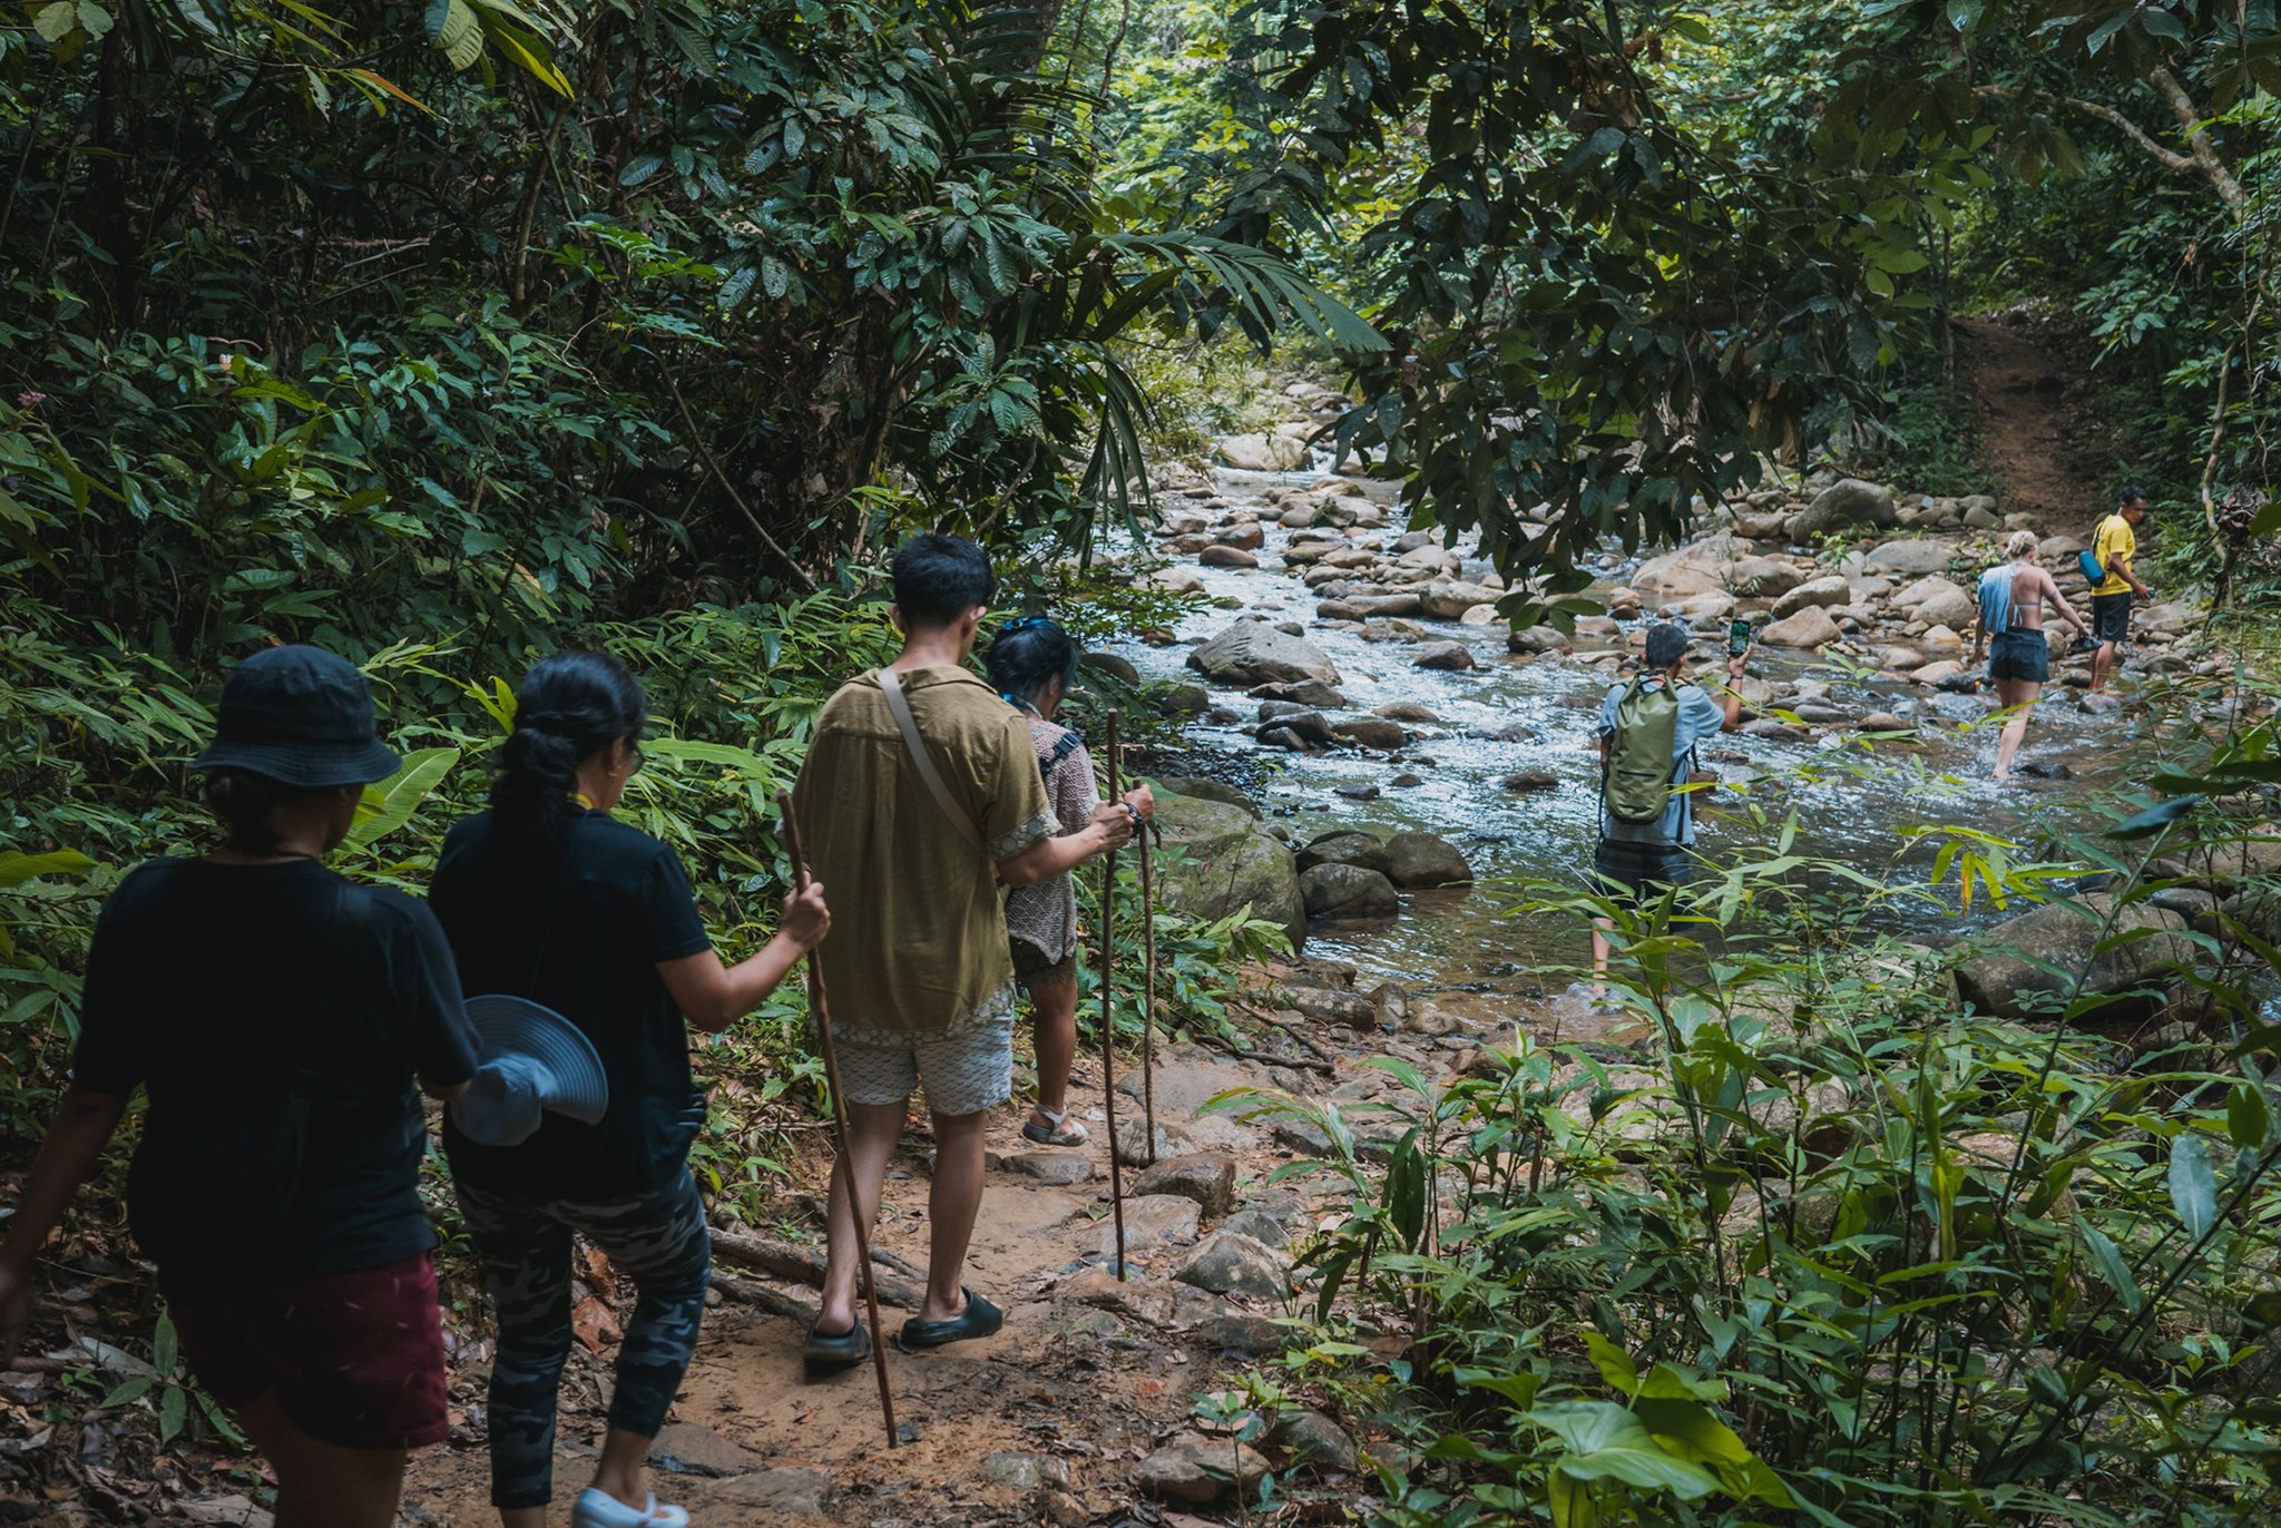
<svg viewBox="0 0 2281 1528"><path fill-rule="evenodd" d="M1599 848L1592 869L1601 885L1638 905L1663 887L1686 885L1693 871L1695 791L1686 787L1695 743L1743 725L1743 696L1731 686L1713 700L1688 684L1688 629L1663 623L1647 632L1647 664L1608 691L1599 707ZM1727 659L1729 680L1743 659ZM1592 983L1608 974L1608 919L1592 919Z"/></svg>

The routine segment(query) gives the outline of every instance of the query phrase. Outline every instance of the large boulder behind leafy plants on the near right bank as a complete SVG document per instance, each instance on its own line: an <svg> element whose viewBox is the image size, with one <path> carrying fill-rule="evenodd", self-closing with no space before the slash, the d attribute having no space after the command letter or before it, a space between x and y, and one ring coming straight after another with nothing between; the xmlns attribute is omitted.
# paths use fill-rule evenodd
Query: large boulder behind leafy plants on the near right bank
<svg viewBox="0 0 2281 1528"><path fill-rule="evenodd" d="M2110 912L2114 949L2094 956ZM2114 899L2105 892L2073 903L2048 903L1984 930L1973 942L1982 953L1957 967L1957 992L1982 1013L2016 1019L2039 1010L2039 994L2064 994L2073 976L2083 974L2085 994L2117 997L2112 1008L2146 1015L2167 999L2174 985L2172 972L2194 962L2194 944L2183 928L2183 917L2149 903L2130 903L2114 912ZM2035 960L2069 972L2069 978L2064 983L2053 978Z"/></svg>

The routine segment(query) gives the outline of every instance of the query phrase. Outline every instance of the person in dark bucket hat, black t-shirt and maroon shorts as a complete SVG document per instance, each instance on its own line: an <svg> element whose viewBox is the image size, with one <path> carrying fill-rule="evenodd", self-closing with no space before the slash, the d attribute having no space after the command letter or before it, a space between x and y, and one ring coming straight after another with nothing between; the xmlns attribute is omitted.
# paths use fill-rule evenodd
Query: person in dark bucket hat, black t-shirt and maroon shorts
<svg viewBox="0 0 2281 1528"><path fill-rule="evenodd" d="M192 1371L276 1471L278 1528L383 1528L406 1453L449 1432L415 1081L458 1095L474 1035L429 910L324 867L397 769L365 675L249 657L192 769L224 844L141 864L96 921L73 1083L0 1247L0 1364L139 1086L128 1218Z"/></svg>

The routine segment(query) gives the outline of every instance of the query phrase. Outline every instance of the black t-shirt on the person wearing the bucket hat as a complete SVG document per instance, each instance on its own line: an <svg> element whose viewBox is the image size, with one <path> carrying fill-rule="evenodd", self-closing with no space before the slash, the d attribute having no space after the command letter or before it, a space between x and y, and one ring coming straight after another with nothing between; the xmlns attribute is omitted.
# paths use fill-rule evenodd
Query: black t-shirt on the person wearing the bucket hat
<svg viewBox="0 0 2281 1528"><path fill-rule="evenodd" d="M347 885L315 860L141 864L96 919L71 1065L96 1092L148 1088L137 1159L210 1140L310 1072L283 1236L176 1250L160 1268L176 1293L379 1268L436 1245L415 1074L468 1081L474 1031L443 930L401 892Z"/></svg>

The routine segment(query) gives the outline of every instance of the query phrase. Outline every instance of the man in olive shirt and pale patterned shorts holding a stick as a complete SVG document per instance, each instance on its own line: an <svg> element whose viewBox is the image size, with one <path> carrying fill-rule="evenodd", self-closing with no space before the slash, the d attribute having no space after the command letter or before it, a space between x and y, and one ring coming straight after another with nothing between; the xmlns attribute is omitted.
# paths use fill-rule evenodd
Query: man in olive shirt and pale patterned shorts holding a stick
<svg viewBox="0 0 2281 1528"><path fill-rule="evenodd" d="M1136 821L1111 803L1081 832L1054 837L1029 725L965 668L997 595L983 550L919 534L896 547L892 577L903 655L830 698L794 787L807 862L839 887L839 933L817 958L849 1104L810 1373L869 1357L855 1318L855 1216L878 1218L922 1081L935 1127L926 1298L901 1343L940 1348L1004 1323L960 1282L983 1197L983 1124L1013 1095L1013 962L997 883L1052 880L1125 844Z"/></svg>

